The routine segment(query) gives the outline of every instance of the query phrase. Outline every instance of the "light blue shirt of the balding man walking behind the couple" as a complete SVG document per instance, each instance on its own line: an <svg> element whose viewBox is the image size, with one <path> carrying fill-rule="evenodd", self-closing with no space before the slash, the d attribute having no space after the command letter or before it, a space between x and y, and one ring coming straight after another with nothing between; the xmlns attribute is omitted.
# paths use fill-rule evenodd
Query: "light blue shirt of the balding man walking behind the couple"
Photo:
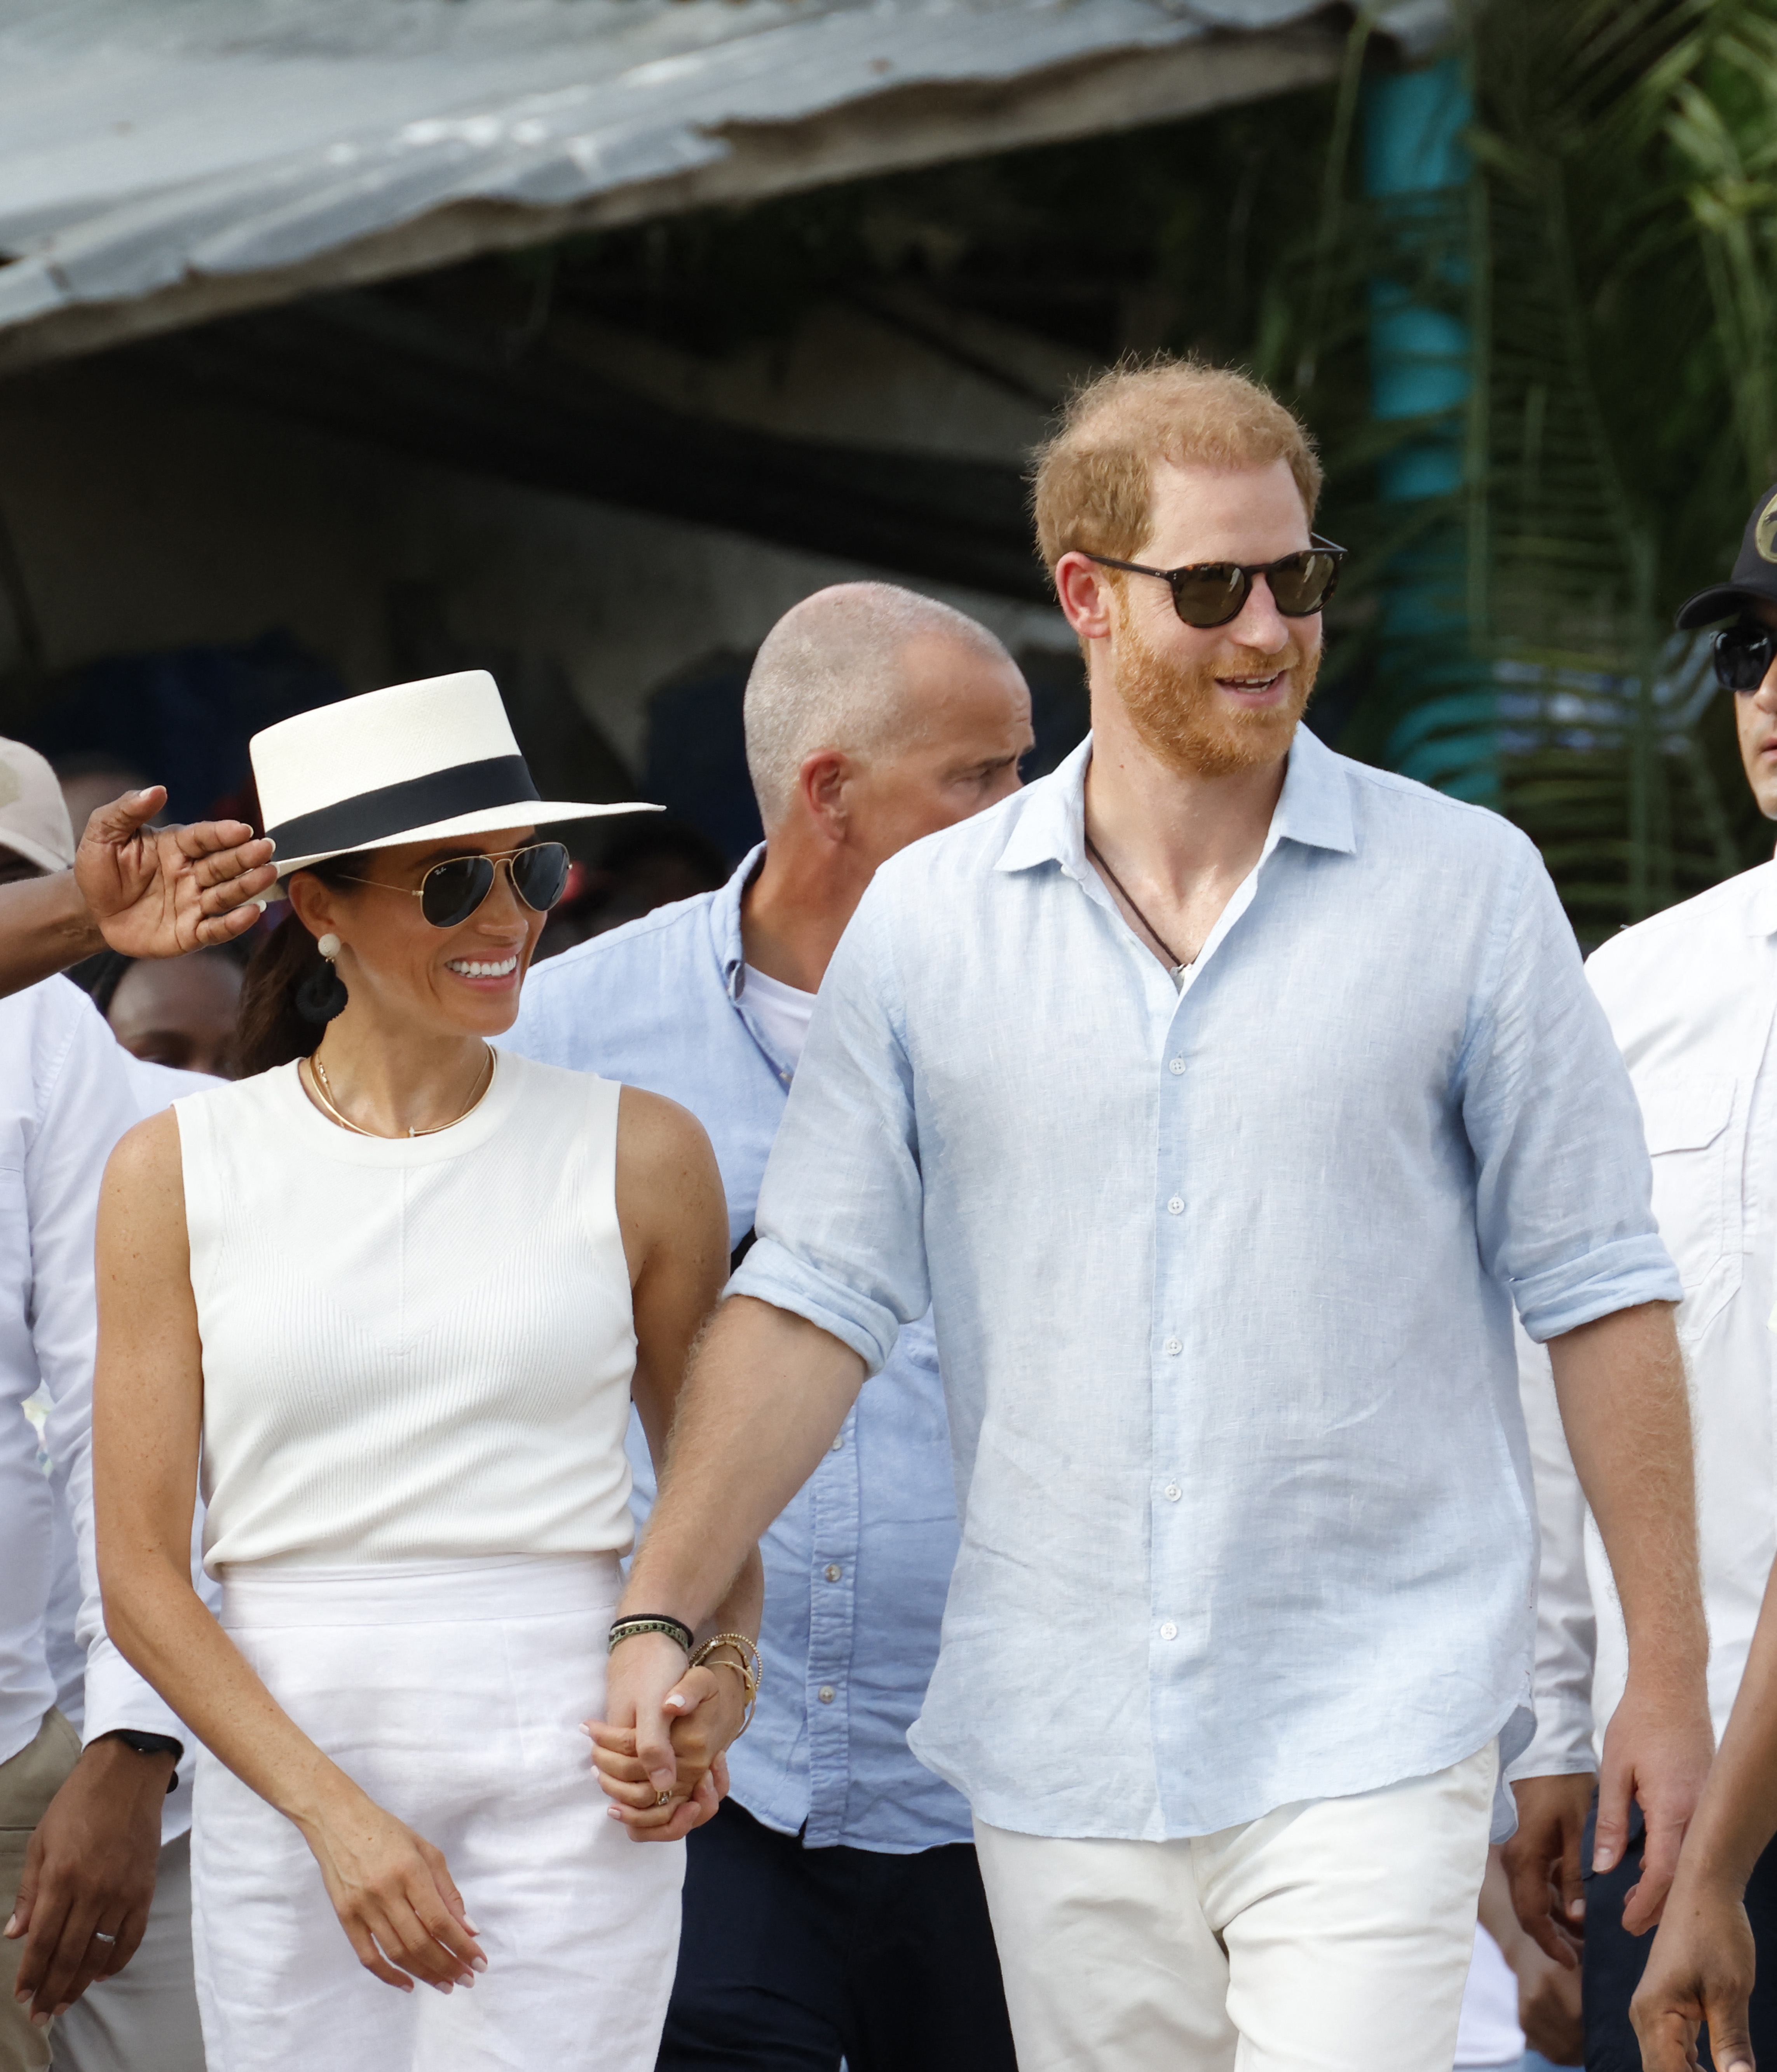
<svg viewBox="0 0 1777 2072"><path fill-rule="evenodd" d="M753 1227L790 1088L744 995L740 893L755 850L703 893L539 963L502 1042L527 1057L645 1086L709 1131L728 1241ZM630 1419L637 1521L653 1465ZM734 1796L805 1842L912 1854L968 1842L968 1807L921 1767L919 1714L956 1560L956 1490L931 1324L902 1332L869 1397L763 1542L765 1680L728 1751Z"/></svg>

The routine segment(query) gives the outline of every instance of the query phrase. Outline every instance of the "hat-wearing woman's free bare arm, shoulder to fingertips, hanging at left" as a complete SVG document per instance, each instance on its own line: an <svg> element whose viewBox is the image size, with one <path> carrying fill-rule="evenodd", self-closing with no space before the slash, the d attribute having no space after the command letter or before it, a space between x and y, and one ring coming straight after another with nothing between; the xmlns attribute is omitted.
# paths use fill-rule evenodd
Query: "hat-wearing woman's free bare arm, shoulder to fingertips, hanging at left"
<svg viewBox="0 0 1777 2072"><path fill-rule="evenodd" d="M297 1823L367 1970L404 1991L404 1973L444 1991L469 1983L485 1960L440 1852L301 1732L191 1587L203 1351L170 1111L131 1129L106 1167L97 1299L93 1508L110 1637Z"/></svg>

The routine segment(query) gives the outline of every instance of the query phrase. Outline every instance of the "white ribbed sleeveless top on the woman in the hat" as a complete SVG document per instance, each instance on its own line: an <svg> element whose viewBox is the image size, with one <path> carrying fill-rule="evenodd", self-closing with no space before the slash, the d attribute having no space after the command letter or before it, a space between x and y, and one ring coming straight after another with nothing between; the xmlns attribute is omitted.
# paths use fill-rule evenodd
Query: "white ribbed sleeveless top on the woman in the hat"
<svg viewBox="0 0 1777 2072"><path fill-rule="evenodd" d="M429 1138L340 1129L294 1065L174 1102L211 1575L628 1550L618 1094L500 1051Z"/></svg>

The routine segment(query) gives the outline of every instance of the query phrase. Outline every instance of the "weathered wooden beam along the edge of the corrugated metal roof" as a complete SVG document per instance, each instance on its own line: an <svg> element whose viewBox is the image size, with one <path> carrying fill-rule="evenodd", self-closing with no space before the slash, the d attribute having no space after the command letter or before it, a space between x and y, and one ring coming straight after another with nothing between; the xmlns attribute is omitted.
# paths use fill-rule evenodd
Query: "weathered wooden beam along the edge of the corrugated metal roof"
<svg viewBox="0 0 1777 2072"><path fill-rule="evenodd" d="M547 244L576 230L713 205L738 207L840 180L1176 122L1211 108L1323 85L1337 77L1342 56L1344 37L1333 31L1207 35L1165 50L1074 60L1006 81L890 87L807 122L736 122L717 131L730 147L724 157L672 178L612 189L554 209L458 201L301 265L193 274L135 300L62 305L0 332L0 373L104 352L129 340L309 294L429 274L479 253Z"/></svg>

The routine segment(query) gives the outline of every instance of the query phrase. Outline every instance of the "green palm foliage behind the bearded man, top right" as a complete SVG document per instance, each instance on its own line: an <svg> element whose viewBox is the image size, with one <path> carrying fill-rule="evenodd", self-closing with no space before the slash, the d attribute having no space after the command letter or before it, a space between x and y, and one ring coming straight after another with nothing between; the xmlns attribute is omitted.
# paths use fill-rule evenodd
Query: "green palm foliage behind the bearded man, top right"
<svg viewBox="0 0 1777 2072"><path fill-rule="evenodd" d="M1402 222L1329 166L1302 404L1335 470L1360 474L1377 427L1329 416L1317 373L1362 352L1366 284L1410 278L1466 319L1466 485L1414 516L1462 539L1466 642L1499 684L1501 804L1599 939L1769 854L1731 700L1669 628L1777 477L1777 8L1491 0L1466 62L1474 170L1441 213ZM1400 512L1346 508L1387 582ZM1441 659L1427 640L1389 673L1348 642L1344 669L1371 675L1342 746L1381 760L1416 700L1435 719Z"/></svg>

